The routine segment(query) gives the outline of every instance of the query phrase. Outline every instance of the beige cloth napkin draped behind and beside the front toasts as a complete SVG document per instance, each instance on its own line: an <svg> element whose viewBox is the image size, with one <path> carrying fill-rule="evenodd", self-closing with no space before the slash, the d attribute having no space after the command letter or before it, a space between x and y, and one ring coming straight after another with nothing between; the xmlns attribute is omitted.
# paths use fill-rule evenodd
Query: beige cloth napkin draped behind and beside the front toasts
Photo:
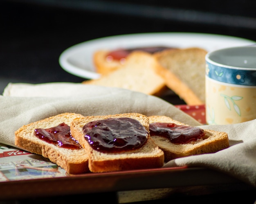
<svg viewBox="0 0 256 204"><path fill-rule="evenodd" d="M164 167L206 167L256 187L256 120L235 125L202 125L158 97L77 83L10 83L0 96L0 107L0 143L14 147L16 129L63 112L85 116L128 112L166 115L191 126L227 132L231 147L214 154L178 158Z"/></svg>

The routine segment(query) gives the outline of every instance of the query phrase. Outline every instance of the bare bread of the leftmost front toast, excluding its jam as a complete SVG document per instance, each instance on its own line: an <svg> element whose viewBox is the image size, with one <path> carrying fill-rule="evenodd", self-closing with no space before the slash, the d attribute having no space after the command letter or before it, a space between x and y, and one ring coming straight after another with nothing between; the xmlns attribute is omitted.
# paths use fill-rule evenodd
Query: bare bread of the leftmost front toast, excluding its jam
<svg viewBox="0 0 256 204"><path fill-rule="evenodd" d="M31 153L40 154L45 158L49 158L50 161L65 169L67 173L86 173L89 171L89 157L85 149L58 147L34 135L34 130L37 128L47 129L56 127L63 122L70 125L71 121L77 117L82 117L82 115L63 113L24 125L15 132L15 145Z"/></svg>

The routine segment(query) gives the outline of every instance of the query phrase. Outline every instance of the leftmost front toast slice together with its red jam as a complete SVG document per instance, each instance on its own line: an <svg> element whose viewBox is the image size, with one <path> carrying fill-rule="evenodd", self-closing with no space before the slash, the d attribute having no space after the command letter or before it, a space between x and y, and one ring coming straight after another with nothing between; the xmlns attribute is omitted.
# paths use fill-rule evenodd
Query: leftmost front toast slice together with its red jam
<svg viewBox="0 0 256 204"><path fill-rule="evenodd" d="M82 115L63 113L24 125L15 132L15 145L49 158L67 173L89 172L87 152L70 135L70 123L77 117Z"/></svg>

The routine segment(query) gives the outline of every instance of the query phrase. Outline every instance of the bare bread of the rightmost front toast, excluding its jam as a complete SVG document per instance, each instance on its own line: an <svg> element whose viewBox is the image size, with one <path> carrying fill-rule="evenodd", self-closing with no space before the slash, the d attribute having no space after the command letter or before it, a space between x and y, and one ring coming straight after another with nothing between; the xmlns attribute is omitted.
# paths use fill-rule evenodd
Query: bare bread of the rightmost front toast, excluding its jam
<svg viewBox="0 0 256 204"><path fill-rule="evenodd" d="M175 123L177 125L186 125L167 116L149 116L148 118L149 123ZM185 144L171 143L168 138L163 136L151 135L151 138L164 151L164 159L166 162L185 156L215 153L229 147L229 138L226 132L204 129L204 133L205 136L203 140Z"/></svg>

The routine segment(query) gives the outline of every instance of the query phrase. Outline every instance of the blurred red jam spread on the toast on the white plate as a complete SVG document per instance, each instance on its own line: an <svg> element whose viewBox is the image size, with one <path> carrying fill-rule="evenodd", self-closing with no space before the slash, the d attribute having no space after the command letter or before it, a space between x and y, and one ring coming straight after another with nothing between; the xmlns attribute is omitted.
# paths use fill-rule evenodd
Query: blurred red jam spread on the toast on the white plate
<svg viewBox="0 0 256 204"><path fill-rule="evenodd" d="M144 48L133 48L133 49L117 49L109 52L107 54L106 60L112 61L112 60L125 59L132 51L135 51L135 50L144 51L144 52L153 54L166 49L171 49L171 47L159 46L159 47L144 47Z"/></svg>

